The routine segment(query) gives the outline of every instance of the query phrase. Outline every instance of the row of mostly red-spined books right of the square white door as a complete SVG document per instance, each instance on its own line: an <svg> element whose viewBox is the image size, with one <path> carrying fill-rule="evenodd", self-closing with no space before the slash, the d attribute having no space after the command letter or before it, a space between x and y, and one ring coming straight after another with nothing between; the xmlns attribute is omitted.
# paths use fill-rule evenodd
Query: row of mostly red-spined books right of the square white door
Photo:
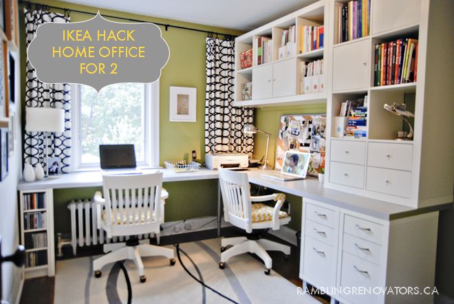
<svg viewBox="0 0 454 304"><path fill-rule="evenodd" d="M418 40L398 39L375 45L374 86L413 83L418 72Z"/></svg>

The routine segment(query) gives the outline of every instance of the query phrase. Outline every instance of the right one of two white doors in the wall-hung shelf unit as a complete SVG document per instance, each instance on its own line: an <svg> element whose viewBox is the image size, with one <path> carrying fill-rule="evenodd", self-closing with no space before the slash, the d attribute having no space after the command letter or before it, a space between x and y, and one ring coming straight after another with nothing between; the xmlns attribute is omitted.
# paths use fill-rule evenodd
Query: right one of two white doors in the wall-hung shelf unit
<svg viewBox="0 0 454 304"><path fill-rule="evenodd" d="M279 61L273 65L272 96L296 94L296 62L294 59Z"/></svg>

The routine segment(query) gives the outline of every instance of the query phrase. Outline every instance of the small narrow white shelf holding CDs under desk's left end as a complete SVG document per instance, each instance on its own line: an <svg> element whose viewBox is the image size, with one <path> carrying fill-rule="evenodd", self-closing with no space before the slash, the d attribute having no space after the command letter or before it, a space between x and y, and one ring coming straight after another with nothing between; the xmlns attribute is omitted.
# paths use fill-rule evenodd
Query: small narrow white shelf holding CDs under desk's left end
<svg viewBox="0 0 454 304"><path fill-rule="evenodd" d="M54 198L52 189L19 191L25 279L55 275Z"/></svg>

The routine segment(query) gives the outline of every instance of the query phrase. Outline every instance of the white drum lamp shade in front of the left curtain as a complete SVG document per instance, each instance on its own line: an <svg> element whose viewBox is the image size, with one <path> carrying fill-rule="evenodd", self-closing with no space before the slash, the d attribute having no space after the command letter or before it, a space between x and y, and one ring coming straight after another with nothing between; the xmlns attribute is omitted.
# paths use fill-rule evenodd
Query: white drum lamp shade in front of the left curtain
<svg viewBox="0 0 454 304"><path fill-rule="evenodd" d="M27 107L25 109L25 130L63 132L65 131L65 110Z"/></svg>

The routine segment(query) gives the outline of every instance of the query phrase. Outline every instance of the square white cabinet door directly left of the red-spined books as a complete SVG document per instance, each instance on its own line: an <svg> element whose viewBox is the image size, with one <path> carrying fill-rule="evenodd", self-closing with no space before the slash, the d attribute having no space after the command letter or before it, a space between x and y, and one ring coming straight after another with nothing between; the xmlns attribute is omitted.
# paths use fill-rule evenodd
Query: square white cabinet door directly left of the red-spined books
<svg viewBox="0 0 454 304"><path fill-rule="evenodd" d="M369 87L369 40L334 47L333 91Z"/></svg>

